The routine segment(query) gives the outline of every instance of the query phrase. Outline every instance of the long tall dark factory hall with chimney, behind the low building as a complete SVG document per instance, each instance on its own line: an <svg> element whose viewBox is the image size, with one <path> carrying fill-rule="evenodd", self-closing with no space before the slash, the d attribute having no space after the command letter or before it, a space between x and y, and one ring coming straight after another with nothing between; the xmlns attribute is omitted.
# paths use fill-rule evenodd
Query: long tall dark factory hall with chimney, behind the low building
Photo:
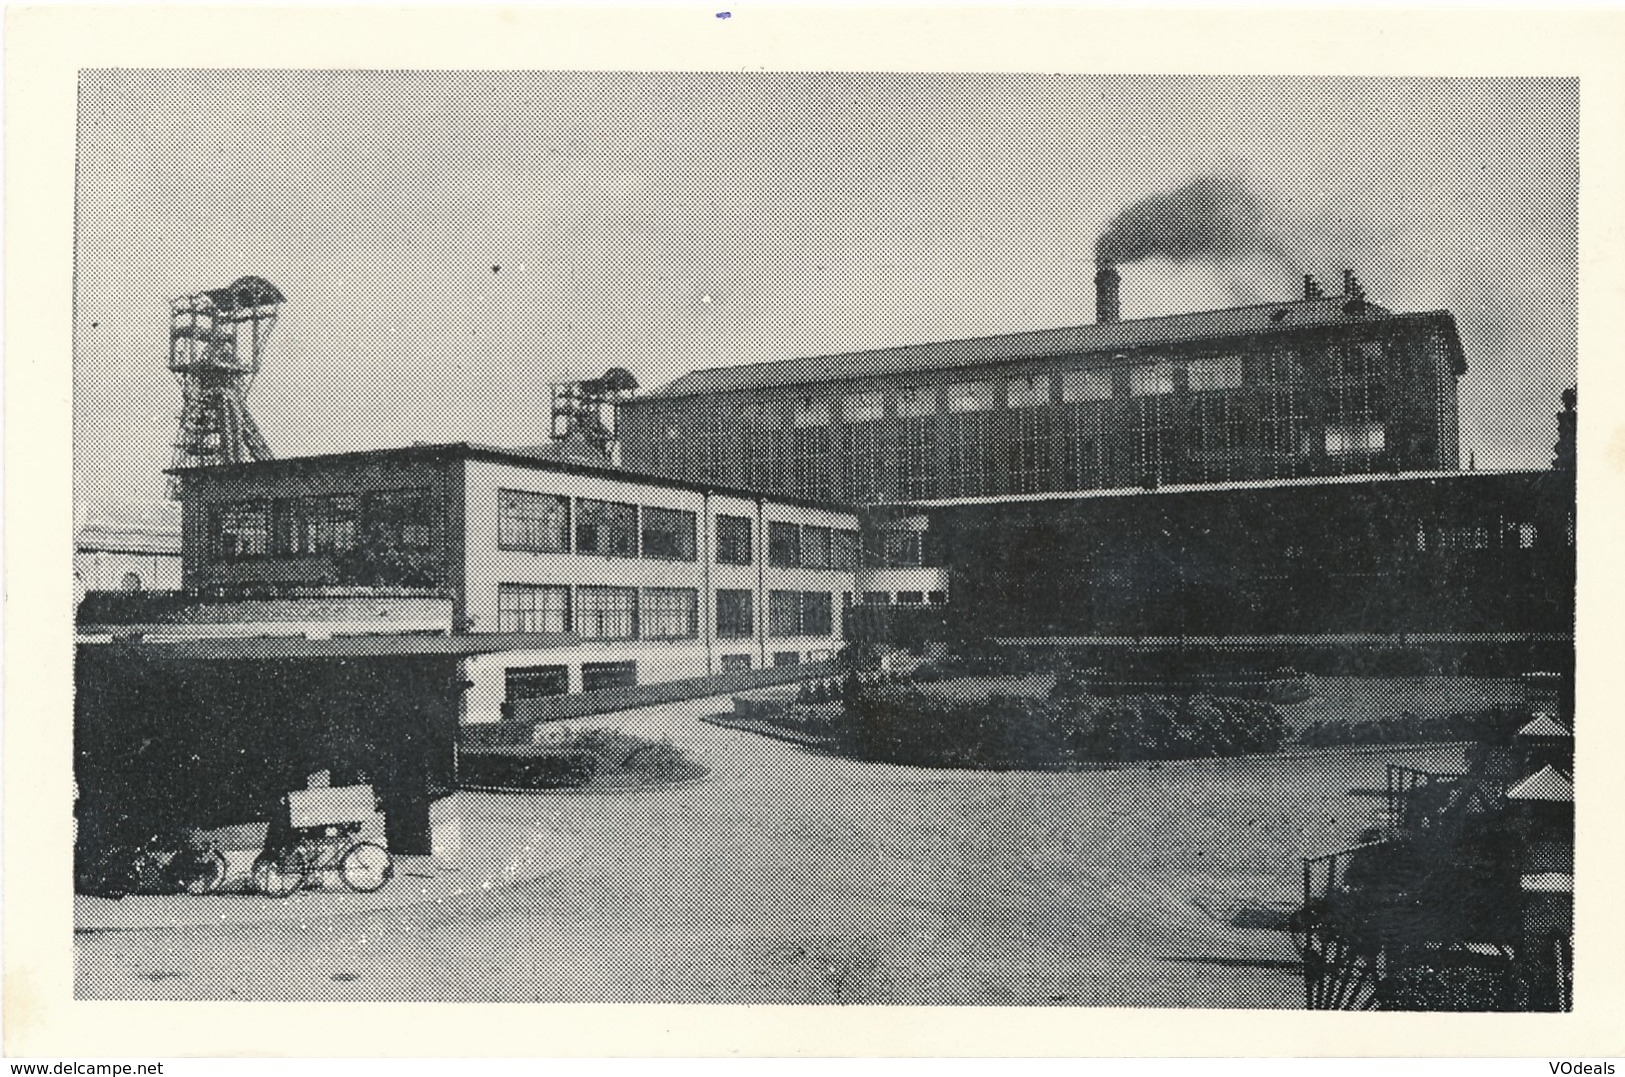
<svg viewBox="0 0 1625 1077"><path fill-rule="evenodd" d="M1354 275L1289 302L696 370L621 406L626 466L845 504L1453 471L1448 312Z"/></svg>

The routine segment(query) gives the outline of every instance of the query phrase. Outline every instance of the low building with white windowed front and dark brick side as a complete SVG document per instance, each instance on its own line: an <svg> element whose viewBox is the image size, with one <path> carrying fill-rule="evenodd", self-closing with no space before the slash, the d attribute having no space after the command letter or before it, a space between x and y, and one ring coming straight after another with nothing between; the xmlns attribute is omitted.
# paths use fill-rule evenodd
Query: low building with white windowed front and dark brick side
<svg viewBox="0 0 1625 1077"><path fill-rule="evenodd" d="M210 599L174 619L192 630L540 640L468 658L463 721L541 695L822 661L858 593L850 508L557 453L416 445L176 476L185 586Z"/></svg>

